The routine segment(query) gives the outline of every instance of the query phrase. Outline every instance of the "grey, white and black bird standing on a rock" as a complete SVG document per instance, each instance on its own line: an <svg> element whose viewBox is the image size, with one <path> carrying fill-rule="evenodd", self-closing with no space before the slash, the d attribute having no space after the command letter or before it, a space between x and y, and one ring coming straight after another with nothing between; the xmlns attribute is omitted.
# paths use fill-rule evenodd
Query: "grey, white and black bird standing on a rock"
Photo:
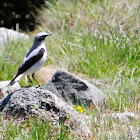
<svg viewBox="0 0 140 140"><path fill-rule="evenodd" d="M45 63L47 59L47 48L45 45L45 39L47 36L50 36L52 33L40 32L34 38L34 43L29 50L29 52L24 57L21 65L19 66L17 73L14 78L10 81L8 86L14 85L19 81L24 75L29 78L29 75L32 75L32 78L36 81L38 86L40 84L35 79L35 72ZM31 81L31 80L30 80Z"/></svg>

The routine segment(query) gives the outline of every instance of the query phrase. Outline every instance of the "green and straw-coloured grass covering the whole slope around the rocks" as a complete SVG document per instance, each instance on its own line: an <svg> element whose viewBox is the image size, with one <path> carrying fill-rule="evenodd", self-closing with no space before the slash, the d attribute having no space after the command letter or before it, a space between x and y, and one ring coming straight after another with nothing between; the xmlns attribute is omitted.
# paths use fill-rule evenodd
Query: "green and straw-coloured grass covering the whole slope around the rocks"
<svg viewBox="0 0 140 140"><path fill-rule="evenodd" d="M42 12L40 28L53 32L46 41L46 65L58 65L75 74L84 74L93 83L95 79L102 83L99 88L104 91L106 101L101 111L84 109L84 113L92 118L89 125L95 139L140 138L139 120L122 123L101 117L114 112L140 114L139 3L139 0L58 0L47 2L48 9ZM32 34L39 31L37 29ZM12 42L2 50L0 80L13 77L32 41ZM24 78L22 84L25 85ZM49 123L46 126L32 120L30 123L34 126L32 131L26 133L30 139L37 139L37 135L43 138L45 134L51 139L52 134L44 129L49 127ZM5 134L3 139L10 138L10 135L11 139L27 139L23 136L23 129L14 124L8 124L6 131L2 130ZM14 129L18 132L12 132ZM62 132L56 134L54 139L68 139ZM31 133L36 135L31 137Z"/></svg>

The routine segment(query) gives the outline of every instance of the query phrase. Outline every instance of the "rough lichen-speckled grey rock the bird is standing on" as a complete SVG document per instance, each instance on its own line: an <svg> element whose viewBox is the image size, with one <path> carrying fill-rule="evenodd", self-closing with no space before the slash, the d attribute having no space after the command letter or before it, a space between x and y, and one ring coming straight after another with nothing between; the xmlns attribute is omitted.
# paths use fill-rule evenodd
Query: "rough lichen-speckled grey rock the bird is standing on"
<svg viewBox="0 0 140 140"><path fill-rule="evenodd" d="M75 134L80 136L82 134L83 137L91 136L83 115L48 90L21 88L4 98L0 110L7 118L12 116L25 119L28 115L32 115L55 122L61 120L65 124L69 122L68 126Z"/></svg>

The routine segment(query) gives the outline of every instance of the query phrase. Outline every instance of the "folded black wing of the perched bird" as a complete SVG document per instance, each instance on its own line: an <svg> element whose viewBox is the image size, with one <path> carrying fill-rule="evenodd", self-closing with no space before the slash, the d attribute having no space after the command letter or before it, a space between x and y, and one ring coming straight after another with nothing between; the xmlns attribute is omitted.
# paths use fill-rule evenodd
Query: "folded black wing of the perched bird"
<svg viewBox="0 0 140 140"><path fill-rule="evenodd" d="M44 55L45 49L41 48L36 55L33 55L33 57L30 57L29 59L26 59L25 61L22 62L21 66L18 69L18 73L22 74L26 70L28 70L30 67L32 67L37 61L39 61L42 56Z"/></svg>

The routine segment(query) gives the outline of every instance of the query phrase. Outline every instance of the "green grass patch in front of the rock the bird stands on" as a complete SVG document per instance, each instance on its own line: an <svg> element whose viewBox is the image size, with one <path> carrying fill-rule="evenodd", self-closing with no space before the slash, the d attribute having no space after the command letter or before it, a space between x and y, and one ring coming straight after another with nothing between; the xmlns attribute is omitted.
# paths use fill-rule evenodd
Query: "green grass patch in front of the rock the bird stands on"
<svg viewBox="0 0 140 140"><path fill-rule="evenodd" d="M3 118L2 118L3 119ZM4 140L64 140L75 139L73 134L63 125L54 126L51 122L43 119L29 118L26 121L3 120L0 123L0 139Z"/></svg>

